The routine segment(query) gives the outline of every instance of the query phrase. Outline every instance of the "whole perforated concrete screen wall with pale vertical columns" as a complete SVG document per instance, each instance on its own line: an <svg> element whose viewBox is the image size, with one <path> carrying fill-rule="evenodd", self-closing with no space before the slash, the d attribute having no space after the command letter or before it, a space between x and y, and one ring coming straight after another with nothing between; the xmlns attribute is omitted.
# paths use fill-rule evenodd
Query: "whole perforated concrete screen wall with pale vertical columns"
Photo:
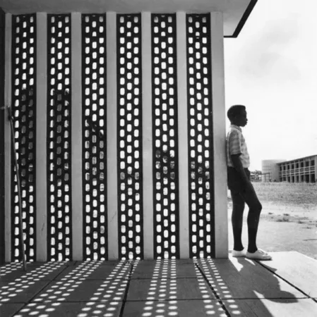
<svg viewBox="0 0 317 317"><path fill-rule="evenodd" d="M222 13L6 14L6 261L227 256ZM217 225L216 225L217 224Z"/></svg>

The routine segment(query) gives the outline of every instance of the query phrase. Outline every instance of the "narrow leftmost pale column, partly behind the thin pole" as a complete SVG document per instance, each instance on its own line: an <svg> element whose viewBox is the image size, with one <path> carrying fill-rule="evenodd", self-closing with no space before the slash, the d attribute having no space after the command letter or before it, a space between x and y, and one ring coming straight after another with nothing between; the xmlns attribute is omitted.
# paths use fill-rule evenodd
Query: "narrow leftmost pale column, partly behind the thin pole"
<svg viewBox="0 0 317 317"><path fill-rule="evenodd" d="M12 15L10 13L6 13L5 33L4 105L11 106ZM11 128L7 111L4 116L4 244L6 245L5 261L11 262Z"/></svg>

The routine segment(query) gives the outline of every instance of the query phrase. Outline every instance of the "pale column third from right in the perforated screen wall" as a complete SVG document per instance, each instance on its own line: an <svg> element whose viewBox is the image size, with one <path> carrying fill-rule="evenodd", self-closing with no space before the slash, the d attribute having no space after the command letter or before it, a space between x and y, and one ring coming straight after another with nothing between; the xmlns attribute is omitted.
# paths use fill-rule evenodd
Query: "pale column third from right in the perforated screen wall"
<svg viewBox="0 0 317 317"><path fill-rule="evenodd" d="M153 259L151 13L142 13L142 133L144 259Z"/></svg>

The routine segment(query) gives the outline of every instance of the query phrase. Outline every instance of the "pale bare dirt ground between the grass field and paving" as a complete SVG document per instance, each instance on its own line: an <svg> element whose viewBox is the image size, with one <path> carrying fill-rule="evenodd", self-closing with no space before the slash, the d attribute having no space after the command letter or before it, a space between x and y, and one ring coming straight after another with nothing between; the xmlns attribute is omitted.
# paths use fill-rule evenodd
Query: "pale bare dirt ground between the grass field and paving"
<svg viewBox="0 0 317 317"><path fill-rule="evenodd" d="M258 247L265 251L298 251L317 259L317 206L292 206L262 202L263 211L258 228ZM229 250L233 247L231 228L232 202L228 201ZM242 232L247 247L246 216Z"/></svg>

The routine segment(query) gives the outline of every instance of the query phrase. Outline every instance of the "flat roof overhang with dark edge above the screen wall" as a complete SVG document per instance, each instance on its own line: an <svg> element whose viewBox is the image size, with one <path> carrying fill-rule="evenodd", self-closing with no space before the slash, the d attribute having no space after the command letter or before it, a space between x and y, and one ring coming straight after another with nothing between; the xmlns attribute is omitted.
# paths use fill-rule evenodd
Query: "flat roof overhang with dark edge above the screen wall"
<svg viewBox="0 0 317 317"><path fill-rule="evenodd" d="M225 37L237 37L258 0L0 0L6 13L222 12Z"/></svg>

